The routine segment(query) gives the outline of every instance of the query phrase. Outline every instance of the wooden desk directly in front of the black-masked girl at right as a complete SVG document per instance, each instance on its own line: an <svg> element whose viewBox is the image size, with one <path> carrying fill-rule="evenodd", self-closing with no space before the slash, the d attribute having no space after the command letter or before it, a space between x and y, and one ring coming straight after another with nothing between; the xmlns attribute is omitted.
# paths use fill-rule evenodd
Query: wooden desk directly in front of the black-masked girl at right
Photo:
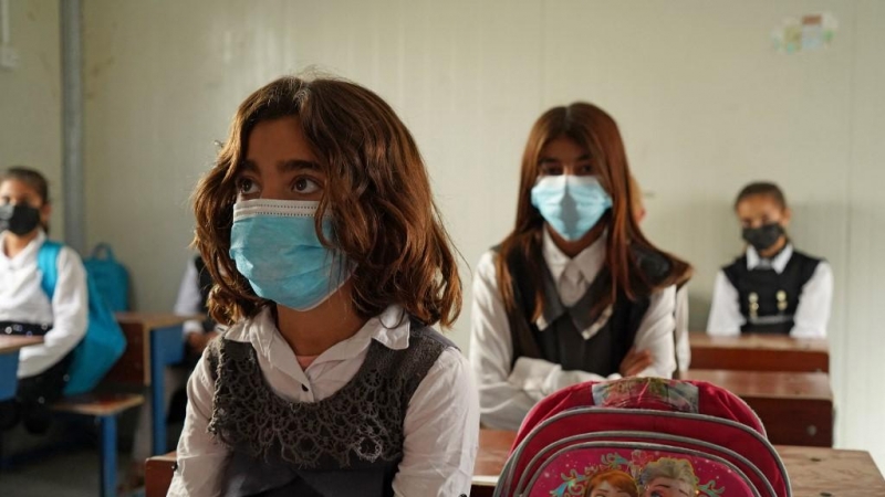
<svg viewBox="0 0 885 497"><path fill-rule="evenodd" d="M691 369L830 372L826 340L779 335L710 337L689 334Z"/></svg>

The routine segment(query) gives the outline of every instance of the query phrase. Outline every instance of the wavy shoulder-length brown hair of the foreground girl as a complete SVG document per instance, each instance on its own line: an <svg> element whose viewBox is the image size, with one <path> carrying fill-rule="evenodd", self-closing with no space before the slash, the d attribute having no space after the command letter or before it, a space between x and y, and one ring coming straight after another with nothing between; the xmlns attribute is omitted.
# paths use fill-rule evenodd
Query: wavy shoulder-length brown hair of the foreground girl
<svg viewBox="0 0 885 497"><path fill-rule="evenodd" d="M237 178L258 123L298 117L326 181L315 216L334 212L334 245L353 263L353 300L363 317L398 304L426 325L450 326L461 281L415 140L373 92L346 81L281 77L240 104L230 135L194 194L195 246L216 282L209 308L219 322L254 316L258 297L228 255Z"/></svg>

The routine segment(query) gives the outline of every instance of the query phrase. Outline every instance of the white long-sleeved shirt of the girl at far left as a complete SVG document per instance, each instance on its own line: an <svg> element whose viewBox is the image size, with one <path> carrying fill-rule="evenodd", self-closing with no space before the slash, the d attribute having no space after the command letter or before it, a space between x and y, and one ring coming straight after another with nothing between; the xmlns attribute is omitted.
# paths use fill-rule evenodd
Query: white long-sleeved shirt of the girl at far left
<svg viewBox="0 0 885 497"><path fill-rule="evenodd" d="M86 272L76 252L63 246L55 261L58 279L50 302L41 286L43 273L37 266L37 253L46 235L41 230L10 258L2 250L7 234L0 233L0 321L52 325L43 343L19 352L18 377L29 378L62 360L86 335Z"/></svg>

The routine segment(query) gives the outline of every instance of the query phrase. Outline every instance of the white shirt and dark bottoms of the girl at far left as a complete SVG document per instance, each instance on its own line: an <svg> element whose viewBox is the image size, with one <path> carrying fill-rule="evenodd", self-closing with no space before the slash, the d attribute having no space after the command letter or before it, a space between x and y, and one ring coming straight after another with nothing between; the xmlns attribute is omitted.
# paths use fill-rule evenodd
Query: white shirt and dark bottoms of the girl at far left
<svg viewBox="0 0 885 497"><path fill-rule="evenodd" d="M6 236L7 232L0 233L0 247ZM45 240L41 231L14 257L0 250L0 332L39 335L44 340L19 351L17 402L25 419L29 411L38 414L35 410L62 396L71 352L86 335L88 316L86 273L72 248L59 252L52 300L43 292L37 254Z"/></svg>

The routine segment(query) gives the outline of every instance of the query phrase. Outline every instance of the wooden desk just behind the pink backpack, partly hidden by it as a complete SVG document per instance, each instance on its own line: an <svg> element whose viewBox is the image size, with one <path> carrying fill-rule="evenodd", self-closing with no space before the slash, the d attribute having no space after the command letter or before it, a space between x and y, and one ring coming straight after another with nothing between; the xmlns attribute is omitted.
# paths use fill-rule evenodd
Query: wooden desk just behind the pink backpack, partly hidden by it
<svg viewBox="0 0 885 497"><path fill-rule="evenodd" d="M833 392L826 373L693 369L683 379L707 381L743 399L773 444L833 446Z"/></svg>

